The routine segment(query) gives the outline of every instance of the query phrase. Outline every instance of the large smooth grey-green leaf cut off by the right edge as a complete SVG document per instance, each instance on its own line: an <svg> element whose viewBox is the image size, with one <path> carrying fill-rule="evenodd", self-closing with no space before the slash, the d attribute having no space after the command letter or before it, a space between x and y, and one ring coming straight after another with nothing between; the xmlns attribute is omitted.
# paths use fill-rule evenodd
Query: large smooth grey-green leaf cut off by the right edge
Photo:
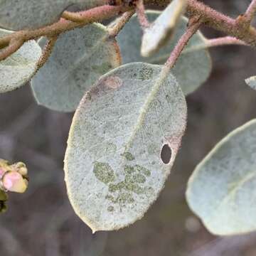
<svg viewBox="0 0 256 256"><path fill-rule="evenodd" d="M256 119L228 134L196 167L186 198L216 235L256 230Z"/></svg>

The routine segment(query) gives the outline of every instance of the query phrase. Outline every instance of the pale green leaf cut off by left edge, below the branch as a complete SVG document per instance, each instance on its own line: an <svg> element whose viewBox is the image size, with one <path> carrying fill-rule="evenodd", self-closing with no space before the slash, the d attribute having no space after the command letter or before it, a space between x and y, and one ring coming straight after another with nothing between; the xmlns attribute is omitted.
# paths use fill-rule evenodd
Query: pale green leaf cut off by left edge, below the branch
<svg viewBox="0 0 256 256"><path fill-rule="evenodd" d="M0 29L0 37L11 31ZM16 53L0 62L0 93L16 90L25 85L36 73L38 60L41 57L41 48L36 41L29 41Z"/></svg>

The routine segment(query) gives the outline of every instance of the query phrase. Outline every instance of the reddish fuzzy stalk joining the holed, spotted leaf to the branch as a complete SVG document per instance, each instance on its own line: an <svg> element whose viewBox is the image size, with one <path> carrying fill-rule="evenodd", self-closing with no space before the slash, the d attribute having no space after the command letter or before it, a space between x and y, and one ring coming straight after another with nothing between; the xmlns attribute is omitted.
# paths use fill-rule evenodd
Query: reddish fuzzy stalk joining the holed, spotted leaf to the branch
<svg viewBox="0 0 256 256"><path fill-rule="evenodd" d="M196 18L196 17L194 17ZM196 18L196 21L190 20L188 22L188 28L185 33L183 33L183 36L178 40L178 43L174 47L174 50L171 52L171 55L169 59L166 61L164 65L164 73L169 73L169 70L174 67L176 61L178 60L178 57L181 55L182 50L185 48L186 44L188 43L189 39L193 36L196 31L198 31L198 28L201 26L201 19Z"/></svg>

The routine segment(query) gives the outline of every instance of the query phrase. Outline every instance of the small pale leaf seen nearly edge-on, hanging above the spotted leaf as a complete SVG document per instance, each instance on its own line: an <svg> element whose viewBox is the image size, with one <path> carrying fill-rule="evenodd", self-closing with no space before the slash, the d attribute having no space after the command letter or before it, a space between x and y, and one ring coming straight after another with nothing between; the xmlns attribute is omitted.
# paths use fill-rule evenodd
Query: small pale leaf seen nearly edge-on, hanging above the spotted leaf
<svg viewBox="0 0 256 256"><path fill-rule="evenodd" d="M171 4L146 28L142 37L142 56L149 57L164 46L174 33L174 29L185 11L187 0L173 0Z"/></svg>

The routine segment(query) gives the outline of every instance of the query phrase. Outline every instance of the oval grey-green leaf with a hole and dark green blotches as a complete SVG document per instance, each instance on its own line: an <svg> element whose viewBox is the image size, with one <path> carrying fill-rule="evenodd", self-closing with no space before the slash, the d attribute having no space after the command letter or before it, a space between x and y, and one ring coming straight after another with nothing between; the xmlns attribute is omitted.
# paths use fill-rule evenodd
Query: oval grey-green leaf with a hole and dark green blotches
<svg viewBox="0 0 256 256"><path fill-rule="evenodd" d="M174 76L160 72L159 65L122 65L103 75L75 112L65 181L75 212L93 232L142 218L169 176L186 101Z"/></svg>

